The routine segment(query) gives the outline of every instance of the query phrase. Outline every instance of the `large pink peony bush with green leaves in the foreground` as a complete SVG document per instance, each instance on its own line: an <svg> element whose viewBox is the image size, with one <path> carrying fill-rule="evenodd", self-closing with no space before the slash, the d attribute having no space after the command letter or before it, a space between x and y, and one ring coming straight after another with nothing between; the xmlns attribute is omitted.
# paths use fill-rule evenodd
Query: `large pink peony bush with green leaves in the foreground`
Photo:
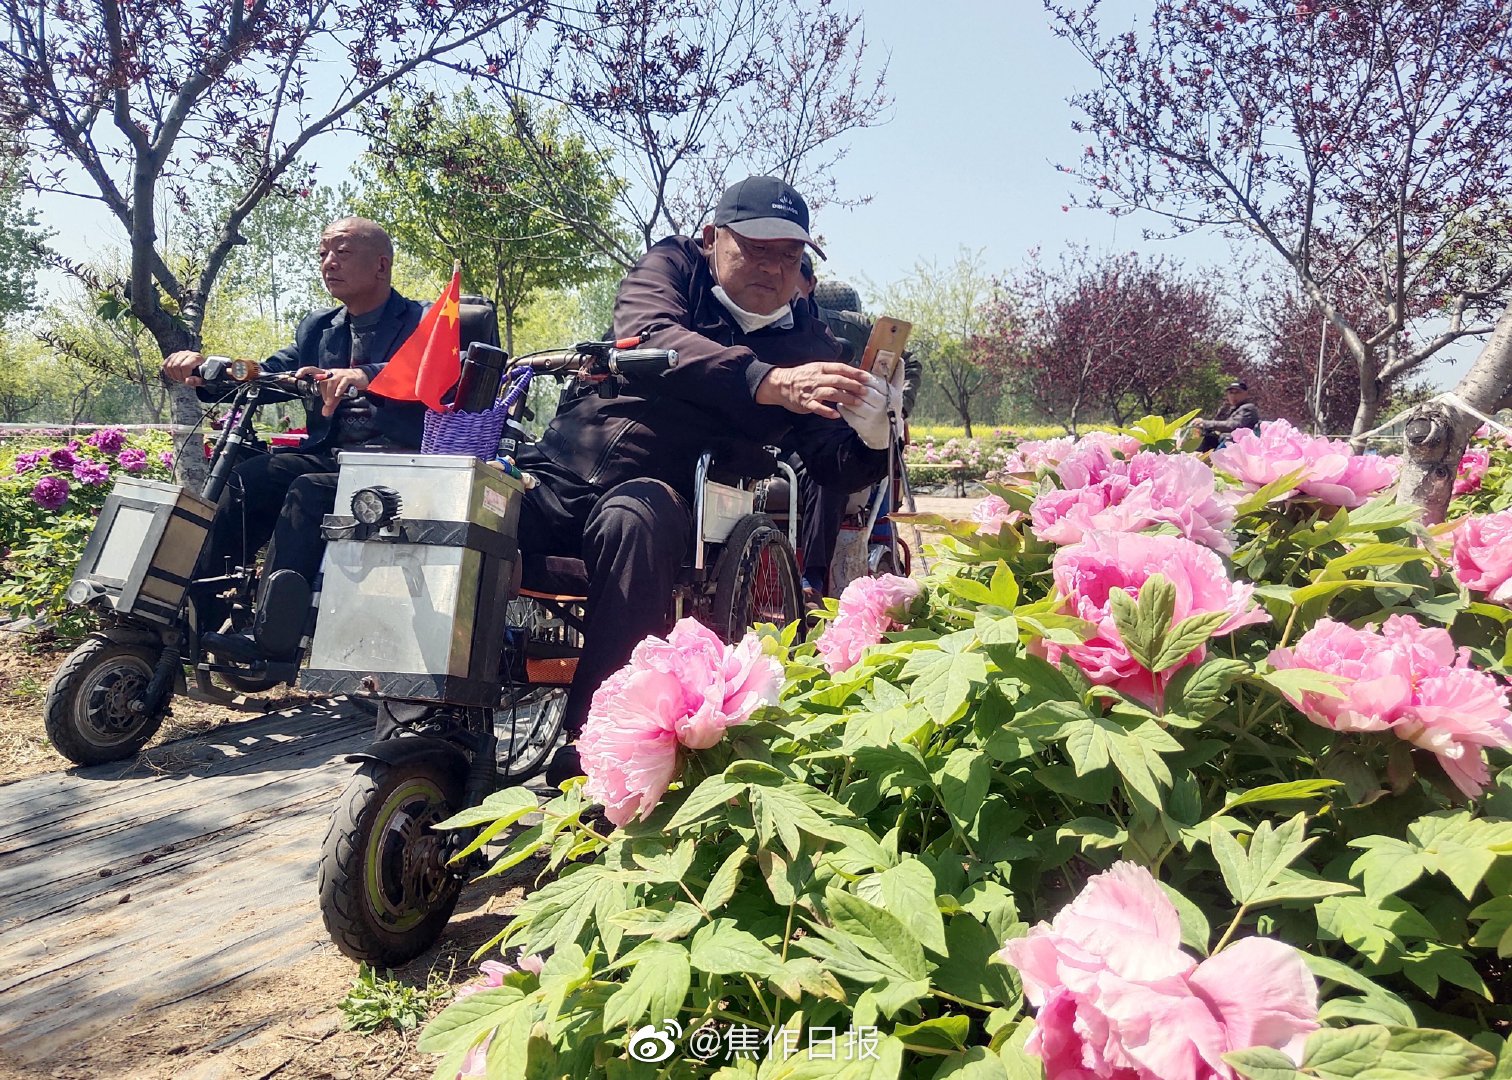
<svg viewBox="0 0 1512 1080"><path fill-rule="evenodd" d="M809 640L643 646L587 787L452 823L538 812L490 873L547 873L437 1075L1504 1069L1512 513L1426 531L1346 445L1173 436L1028 448L921 591Z"/></svg>

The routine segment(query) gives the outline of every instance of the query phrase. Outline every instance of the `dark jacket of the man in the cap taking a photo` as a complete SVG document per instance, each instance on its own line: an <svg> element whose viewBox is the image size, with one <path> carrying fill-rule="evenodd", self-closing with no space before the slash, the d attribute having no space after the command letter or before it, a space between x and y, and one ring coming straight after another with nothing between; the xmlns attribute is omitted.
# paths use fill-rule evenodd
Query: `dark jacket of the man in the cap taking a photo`
<svg viewBox="0 0 1512 1080"><path fill-rule="evenodd" d="M789 330L747 334L714 298L714 286L694 241L673 236L647 251L620 283L614 336L677 349L677 366L626 384L618 398L570 396L538 449L599 489L650 476L683 496L691 496L699 455L721 442L797 451L821 484L847 490L886 473L886 452L866 449L844 421L756 404L756 386L773 368L841 357L807 306L794 306Z"/></svg>

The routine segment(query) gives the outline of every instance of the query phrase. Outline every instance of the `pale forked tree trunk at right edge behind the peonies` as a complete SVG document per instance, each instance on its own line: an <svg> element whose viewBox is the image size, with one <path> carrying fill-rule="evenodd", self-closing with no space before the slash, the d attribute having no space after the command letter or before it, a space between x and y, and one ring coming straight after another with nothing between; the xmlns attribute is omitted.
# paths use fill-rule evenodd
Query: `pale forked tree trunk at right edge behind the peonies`
<svg viewBox="0 0 1512 1080"><path fill-rule="evenodd" d="M1512 389L1512 304L1476 363L1455 387L1455 396L1480 413L1494 413ZM1418 405L1403 434L1397 499L1423 507L1423 520L1436 525L1448 513L1459 458L1480 419L1447 401ZM1358 430L1358 428L1356 428Z"/></svg>

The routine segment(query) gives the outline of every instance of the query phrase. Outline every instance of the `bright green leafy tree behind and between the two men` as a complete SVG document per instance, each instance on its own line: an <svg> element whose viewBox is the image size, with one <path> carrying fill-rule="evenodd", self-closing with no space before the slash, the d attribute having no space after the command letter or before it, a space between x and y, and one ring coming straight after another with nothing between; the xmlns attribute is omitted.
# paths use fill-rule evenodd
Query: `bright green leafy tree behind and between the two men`
<svg viewBox="0 0 1512 1080"><path fill-rule="evenodd" d="M523 101L514 112L529 112ZM372 148L357 166L357 209L386 222L417 262L461 260L466 286L499 306L503 345L514 351L514 325L537 289L564 289L603 272L588 230L547 209L529 153L502 109L470 91L451 101L393 98L366 116ZM561 130L559 118L531 118L556 186L572 192L593 231L612 231L618 182L605 157Z"/></svg>

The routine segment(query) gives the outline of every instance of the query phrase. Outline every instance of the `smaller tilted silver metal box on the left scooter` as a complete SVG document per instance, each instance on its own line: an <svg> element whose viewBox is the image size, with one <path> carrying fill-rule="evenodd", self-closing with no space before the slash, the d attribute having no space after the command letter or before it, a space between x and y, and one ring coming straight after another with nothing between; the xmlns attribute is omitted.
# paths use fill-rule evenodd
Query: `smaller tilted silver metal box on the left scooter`
<svg viewBox="0 0 1512 1080"><path fill-rule="evenodd" d="M213 514L213 504L178 484L122 476L100 508L68 599L174 622Z"/></svg>

